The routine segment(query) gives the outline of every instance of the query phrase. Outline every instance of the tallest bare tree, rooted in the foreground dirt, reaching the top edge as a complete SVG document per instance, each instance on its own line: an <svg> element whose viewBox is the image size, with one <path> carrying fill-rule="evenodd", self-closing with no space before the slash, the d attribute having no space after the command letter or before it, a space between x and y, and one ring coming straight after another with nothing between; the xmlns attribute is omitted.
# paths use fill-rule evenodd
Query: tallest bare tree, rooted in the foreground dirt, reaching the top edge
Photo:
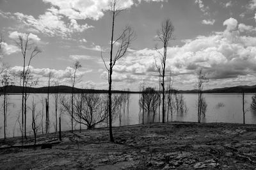
<svg viewBox="0 0 256 170"><path fill-rule="evenodd" d="M119 0L110 0L109 1L109 10L111 12L111 19L112 19L112 29L111 29L111 47L110 47L110 58L109 58L109 67L106 65L106 62L104 61L103 56L102 60L104 61L104 65L106 66L106 69L108 70L108 98L109 98L109 104L108 104L108 112L109 112L109 138L110 141L114 142L113 132L112 132L112 111L111 111L111 104L112 104L112 74L113 74L113 67L116 64L116 61L118 59L125 56L127 53L127 49L131 45L132 40L134 39L134 31L132 31L131 26L126 26L124 30L122 31L121 35L114 40L114 33L115 33L115 20L120 13L124 11L122 8ZM119 45L118 45L118 43ZM114 54L113 45L116 43L118 45L116 49L116 53ZM102 54L102 53L101 53Z"/></svg>

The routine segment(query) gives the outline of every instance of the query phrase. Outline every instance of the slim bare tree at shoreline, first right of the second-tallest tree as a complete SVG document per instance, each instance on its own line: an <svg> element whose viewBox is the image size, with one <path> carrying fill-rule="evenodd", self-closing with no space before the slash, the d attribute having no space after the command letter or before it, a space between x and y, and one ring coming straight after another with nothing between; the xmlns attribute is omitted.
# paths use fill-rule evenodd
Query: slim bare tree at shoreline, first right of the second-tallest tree
<svg viewBox="0 0 256 170"><path fill-rule="evenodd" d="M201 116L205 116L207 104L205 98L203 97L203 88L204 82L207 81L205 74L203 73L202 68L198 70L198 101L196 103L198 109L198 123L201 122Z"/></svg>

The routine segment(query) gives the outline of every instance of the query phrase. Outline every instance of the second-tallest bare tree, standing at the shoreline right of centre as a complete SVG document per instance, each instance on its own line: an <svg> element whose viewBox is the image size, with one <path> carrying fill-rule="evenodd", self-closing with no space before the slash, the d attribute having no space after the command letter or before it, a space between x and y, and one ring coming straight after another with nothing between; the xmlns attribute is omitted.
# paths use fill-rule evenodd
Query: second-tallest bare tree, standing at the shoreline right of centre
<svg viewBox="0 0 256 170"><path fill-rule="evenodd" d="M162 22L161 25L161 30L157 31L157 38L158 40L163 43L163 53L159 52L159 56L160 56L160 61L161 61L161 65L157 65L157 70L159 72L159 75L162 78L162 116L163 116L163 123L164 123L164 114L165 114L165 107L164 107L164 102L165 102L165 98L164 98L164 93L165 93L165 89L164 89L164 77L165 77L165 68L166 68L166 58L167 58L167 47L169 45L170 40L174 40L173 37L173 32L174 32L174 27L172 24L172 21L170 19L166 19ZM157 48L156 48L157 49Z"/></svg>

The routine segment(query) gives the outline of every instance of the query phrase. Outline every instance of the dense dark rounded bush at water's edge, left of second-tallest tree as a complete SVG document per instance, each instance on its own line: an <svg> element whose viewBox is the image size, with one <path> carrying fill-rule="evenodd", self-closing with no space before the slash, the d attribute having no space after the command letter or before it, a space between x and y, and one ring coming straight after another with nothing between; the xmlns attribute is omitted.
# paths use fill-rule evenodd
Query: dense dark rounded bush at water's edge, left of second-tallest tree
<svg viewBox="0 0 256 170"><path fill-rule="evenodd" d="M146 88L140 98L140 107L147 111L147 122L154 122L159 102L159 93L154 88Z"/></svg>

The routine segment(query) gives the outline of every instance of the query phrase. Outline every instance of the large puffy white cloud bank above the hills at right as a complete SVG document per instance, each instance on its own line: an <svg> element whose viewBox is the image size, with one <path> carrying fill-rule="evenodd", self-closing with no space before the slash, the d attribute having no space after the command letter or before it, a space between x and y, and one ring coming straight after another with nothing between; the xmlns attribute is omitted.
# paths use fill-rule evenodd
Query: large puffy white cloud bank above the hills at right
<svg viewBox="0 0 256 170"><path fill-rule="evenodd" d="M211 79L209 87L212 88L217 82L218 86L227 86L228 83L232 86L231 79L236 82L252 80L251 75L256 71L256 38L242 33L255 27L242 23L237 27L237 24L236 19L230 18L223 22L226 28L221 32L196 36L183 41L184 45L168 47L166 75L172 70L175 76L174 86L193 88L191 84L196 84L196 70L199 67L204 68ZM158 56L154 49L132 50L116 63L113 81L118 85L126 83L134 86L132 83L145 80L155 86L159 79L155 64ZM108 72L102 72L101 77L107 80Z"/></svg>

